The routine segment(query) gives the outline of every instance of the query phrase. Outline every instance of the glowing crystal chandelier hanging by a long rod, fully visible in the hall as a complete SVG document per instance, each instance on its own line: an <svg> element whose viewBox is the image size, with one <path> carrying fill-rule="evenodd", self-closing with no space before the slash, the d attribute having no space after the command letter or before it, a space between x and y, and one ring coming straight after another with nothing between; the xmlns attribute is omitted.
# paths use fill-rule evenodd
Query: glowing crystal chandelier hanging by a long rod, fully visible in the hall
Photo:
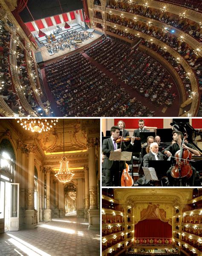
<svg viewBox="0 0 202 256"><path fill-rule="evenodd" d="M64 156L64 119L63 119L63 157L60 162L60 170L58 173L55 174L55 177L58 179L58 181L62 183L66 183L72 180L72 177L74 176L74 173L69 170L68 163L66 157Z"/></svg>

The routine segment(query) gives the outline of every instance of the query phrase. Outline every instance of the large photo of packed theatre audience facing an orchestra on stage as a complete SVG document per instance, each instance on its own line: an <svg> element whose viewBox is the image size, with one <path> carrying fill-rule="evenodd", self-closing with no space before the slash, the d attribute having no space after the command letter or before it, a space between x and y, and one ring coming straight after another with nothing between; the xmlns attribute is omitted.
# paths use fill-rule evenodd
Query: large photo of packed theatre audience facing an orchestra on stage
<svg viewBox="0 0 202 256"><path fill-rule="evenodd" d="M202 116L199 0L1 0L1 116Z"/></svg>

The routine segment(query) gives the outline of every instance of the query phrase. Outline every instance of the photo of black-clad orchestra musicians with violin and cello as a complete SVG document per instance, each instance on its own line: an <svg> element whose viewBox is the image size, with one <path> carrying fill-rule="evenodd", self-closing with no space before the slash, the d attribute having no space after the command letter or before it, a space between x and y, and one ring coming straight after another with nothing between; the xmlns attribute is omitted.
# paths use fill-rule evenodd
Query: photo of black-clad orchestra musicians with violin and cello
<svg viewBox="0 0 202 256"><path fill-rule="evenodd" d="M102 186L202 186L201 118L103 118L101 129Z"/></svg>

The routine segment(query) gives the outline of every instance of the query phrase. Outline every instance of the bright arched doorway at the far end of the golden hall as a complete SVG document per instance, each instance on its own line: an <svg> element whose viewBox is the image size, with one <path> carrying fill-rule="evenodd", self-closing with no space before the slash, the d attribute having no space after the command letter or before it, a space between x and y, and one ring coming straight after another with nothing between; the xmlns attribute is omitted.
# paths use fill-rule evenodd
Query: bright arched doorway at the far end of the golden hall
<svg viewBox="0 0 202 256"><path fill-rule="evenodd" d="M65 216L77 215L77 195L76 186L73 183L68 183L64 187L65 195Z"/></svg>

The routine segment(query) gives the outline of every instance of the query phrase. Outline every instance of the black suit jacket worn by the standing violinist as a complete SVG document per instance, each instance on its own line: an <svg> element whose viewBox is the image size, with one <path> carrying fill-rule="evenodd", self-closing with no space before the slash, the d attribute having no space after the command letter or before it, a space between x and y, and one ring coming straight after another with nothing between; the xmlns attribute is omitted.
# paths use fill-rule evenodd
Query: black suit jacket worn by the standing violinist
<svg viewBox="0 0 202 256"><path fill-rule="evenodd" d="M120 148L120 145L121 145L121 151L130 151L131 152L133 149L133 145L131 143L128 146L126 146L125 143L123 143L123 142L119 143L118 148ZM105 155L105 157L104 157L104 162L102 164L102 169L111 169L113 162L114 162L114 161L109 160L111 151L114 151L114 146L113 146L113 142L112 142L111 138L103 140L102 152ZM122 167L124 167L123 169L126 168L124 161L120 161L120 165L121 165L121 168Z"/></svg>

